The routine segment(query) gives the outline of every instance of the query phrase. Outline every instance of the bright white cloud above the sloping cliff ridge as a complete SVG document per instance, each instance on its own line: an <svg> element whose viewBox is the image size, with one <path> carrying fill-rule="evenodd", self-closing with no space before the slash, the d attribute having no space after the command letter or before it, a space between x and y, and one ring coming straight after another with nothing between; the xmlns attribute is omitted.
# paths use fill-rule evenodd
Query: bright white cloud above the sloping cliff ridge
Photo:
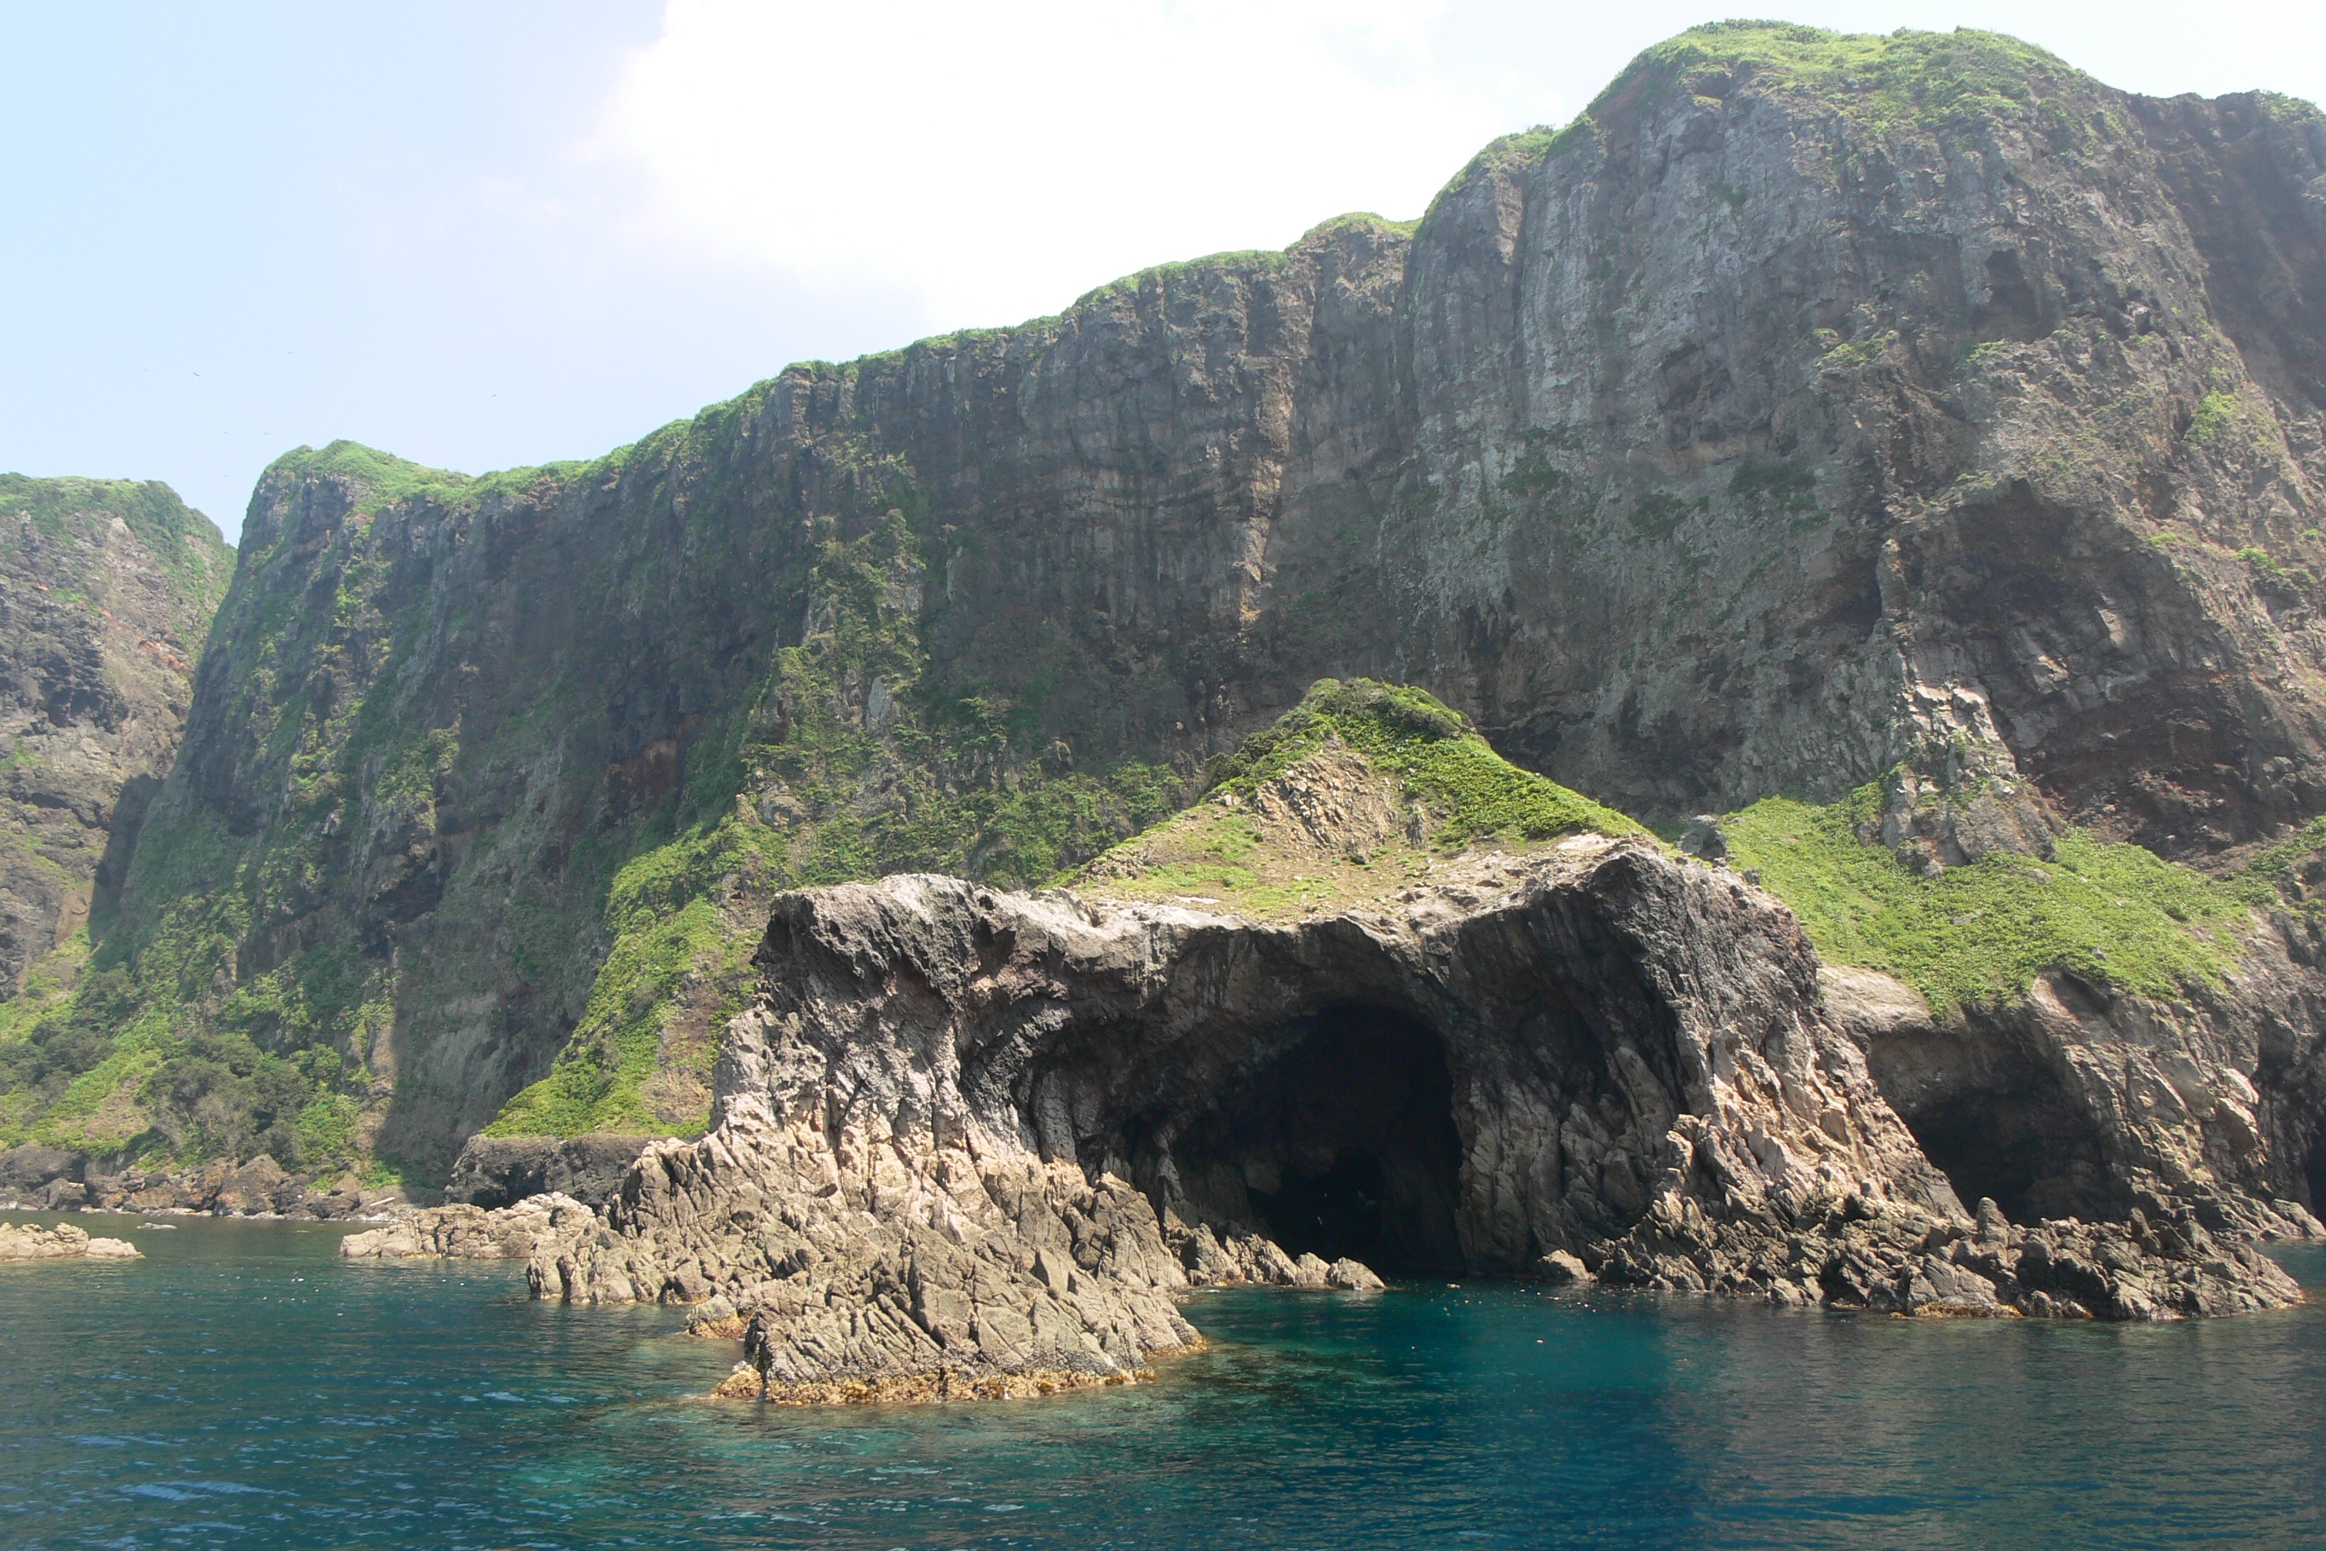
<svg viewBox="0 0 2326 1551"><path fill-rule="evenodd" d="M670 0L600 149L649 174L654 242L1012 323L1344 209L1421 214L1486 140L1572 112L1433 67L1440 9Z"/></svg>

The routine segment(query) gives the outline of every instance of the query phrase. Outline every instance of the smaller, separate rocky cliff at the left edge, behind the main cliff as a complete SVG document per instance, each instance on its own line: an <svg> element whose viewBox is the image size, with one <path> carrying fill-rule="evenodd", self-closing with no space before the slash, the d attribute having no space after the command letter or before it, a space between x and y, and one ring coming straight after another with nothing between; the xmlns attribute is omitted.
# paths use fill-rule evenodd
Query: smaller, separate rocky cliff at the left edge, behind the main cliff
<svg viewBox="0 0 2326 1551"><path fill-rule="evenodd" d="M47 1005L112 912L230 567L167 486L0 474L0 1000Z"/></svg>

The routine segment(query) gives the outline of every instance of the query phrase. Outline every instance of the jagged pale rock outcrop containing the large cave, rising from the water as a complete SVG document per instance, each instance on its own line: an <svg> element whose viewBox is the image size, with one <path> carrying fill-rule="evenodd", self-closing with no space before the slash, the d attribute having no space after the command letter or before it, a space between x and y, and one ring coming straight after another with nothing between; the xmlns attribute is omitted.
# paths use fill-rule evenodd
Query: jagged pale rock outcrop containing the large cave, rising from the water
<svg viewBox="0 0 2326 1551"><path fill-rule="evenodd" d="M719 1125L528 1274L730 1300L768 1398L1107 1379L1196 1339L1184 1288L1293 1281L1284 1246L1312 1281L1342 1249L1903 1311L2298 1300L2161 1198L2131 1228L1968 1214L1791 914L1649 842L1291 923L896 877L784 895L758 967Z"/></svg>

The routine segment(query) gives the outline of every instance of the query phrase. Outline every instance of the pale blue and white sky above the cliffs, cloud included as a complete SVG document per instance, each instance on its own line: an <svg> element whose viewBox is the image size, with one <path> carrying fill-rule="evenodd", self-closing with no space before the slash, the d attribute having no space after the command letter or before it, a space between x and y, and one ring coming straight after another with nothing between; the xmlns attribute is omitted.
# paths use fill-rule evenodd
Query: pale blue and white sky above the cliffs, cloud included
<svg viewBox="0 0 2326 1551"><path fill-rule="evenodd" d="M1710 7L1710 9L1707 9ZM2326 100L2326 5L1756 0ZM1407 219L1714 0L0 0L0 470L602 453L791 360Z"/></svg>

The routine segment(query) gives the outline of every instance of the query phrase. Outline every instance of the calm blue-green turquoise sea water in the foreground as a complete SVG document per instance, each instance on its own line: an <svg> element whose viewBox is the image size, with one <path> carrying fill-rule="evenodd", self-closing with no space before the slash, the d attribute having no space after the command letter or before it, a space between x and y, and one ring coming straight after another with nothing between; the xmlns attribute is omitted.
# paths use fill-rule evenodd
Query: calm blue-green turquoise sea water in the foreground
<svg viewBox="0 0 2326 1551"><path fill-rule="evenodd" d="M761 1411L509 1265L74 1221L149 1258L0 1267L5 1546L2326 1544L2319 1251L2310 1309L2149 1330L1210 1293L1130 1391Z"/></svg>

